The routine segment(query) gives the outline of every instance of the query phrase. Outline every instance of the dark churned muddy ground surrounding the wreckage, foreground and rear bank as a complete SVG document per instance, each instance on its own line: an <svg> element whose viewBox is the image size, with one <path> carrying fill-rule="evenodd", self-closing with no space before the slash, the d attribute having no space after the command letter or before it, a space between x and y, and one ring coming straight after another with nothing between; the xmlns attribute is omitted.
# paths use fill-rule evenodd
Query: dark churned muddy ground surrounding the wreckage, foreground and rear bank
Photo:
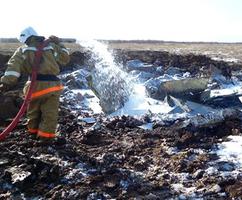
<svg viewBox="0 0 242 200"><path fill-rule="evenodd" d="M228 75L240 68L237 63L193 54L122 51L119 55L117 59L124 63L137 58L166 67L177 63L176 67L184 66L194 74L201 73L202 67L209 74L210 63ZM69 69L85 62L83 56L74 52ZM0 55L1 73L8 58ZM2 129L21 105L19 88L8 94L13 110L2 116ZM80 122L78 116L94 117L97 123ZM241 119L238 115L207 127L183 127L175 121L143 130L137 126L149 118L109 119L81 109L73 114L62 102L59 140L49 144L30 137L24 118L1 141L0 199L241 199L241 172L223 176L208 170L213 166L223 172L234 170L233 163L220 162L213 150L227 136L241 134ZM190 194L189 188L195 192Z"/></svg>

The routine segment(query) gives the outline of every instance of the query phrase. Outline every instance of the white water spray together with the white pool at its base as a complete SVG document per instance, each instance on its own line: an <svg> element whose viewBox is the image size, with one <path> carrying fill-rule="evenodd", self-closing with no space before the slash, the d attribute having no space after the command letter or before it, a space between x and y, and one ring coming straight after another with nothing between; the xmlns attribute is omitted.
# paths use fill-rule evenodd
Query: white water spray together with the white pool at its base
<svg viewBox="0 0 242 200"><path fill-rule="evenodd" d="M79 41L79 44L91 52L90 60L94 64L91 88L105 113L110 116L142 116L171 110L167 103L147 96L145 86L114 61L107 45L98 41Z"/></svg>

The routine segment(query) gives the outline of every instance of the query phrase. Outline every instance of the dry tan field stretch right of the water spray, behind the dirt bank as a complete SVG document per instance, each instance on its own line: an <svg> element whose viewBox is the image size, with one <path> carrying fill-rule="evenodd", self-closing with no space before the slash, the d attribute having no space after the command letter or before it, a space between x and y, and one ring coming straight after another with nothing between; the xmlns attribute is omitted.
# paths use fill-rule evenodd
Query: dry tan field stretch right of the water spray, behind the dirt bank
<svg viewBox="0 0 242 200"><path fill-rule="evenodd" d="M110 48L126 50L168 51L176 54L203 54L214 59L242 62L241 43L196 42L110 42Z"/></svg>

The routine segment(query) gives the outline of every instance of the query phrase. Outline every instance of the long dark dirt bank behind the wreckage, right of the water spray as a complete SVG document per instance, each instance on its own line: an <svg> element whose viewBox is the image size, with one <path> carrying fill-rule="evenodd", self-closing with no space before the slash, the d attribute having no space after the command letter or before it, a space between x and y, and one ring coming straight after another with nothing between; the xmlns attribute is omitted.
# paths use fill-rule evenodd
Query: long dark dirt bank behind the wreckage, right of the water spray
<svg viewBox="0 0 242 200"><path fill-rule="evenodd" d="M163 66L164 69L177 67L190 72L192 75L210 75L209 66L212 64L220 69L225 76L230 76L232 70L240 70L241 65L216 61L205 55L178 55L166 51L125 51L116 50L117 59L126 63L128 60L139 59L143 62Z"/></svg>

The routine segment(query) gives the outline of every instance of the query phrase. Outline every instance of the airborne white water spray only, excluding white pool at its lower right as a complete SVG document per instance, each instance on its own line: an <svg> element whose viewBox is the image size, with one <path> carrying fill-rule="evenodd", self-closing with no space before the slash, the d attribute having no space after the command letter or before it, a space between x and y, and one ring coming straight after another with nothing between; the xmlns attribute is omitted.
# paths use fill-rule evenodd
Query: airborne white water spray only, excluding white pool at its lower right
<svg viewBox="0 0 242 200"><path fill-rule="evenodd" d="M104 112L111 113L121 108L128 100L134 85L132 77L114 61L107 45L98 41L80 41L91 52L91 87L100 100Z"/></svg>

